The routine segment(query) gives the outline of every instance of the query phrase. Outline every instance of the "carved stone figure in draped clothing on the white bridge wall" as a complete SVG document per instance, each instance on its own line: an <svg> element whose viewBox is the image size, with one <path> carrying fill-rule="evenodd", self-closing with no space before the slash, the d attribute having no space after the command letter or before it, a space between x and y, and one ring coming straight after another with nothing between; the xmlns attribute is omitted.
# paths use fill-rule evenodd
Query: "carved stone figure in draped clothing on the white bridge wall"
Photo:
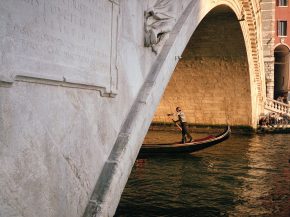
<svg viewBox="0 0 290 217"><path fill-rule="evenodd" d="M145 46L151 46L156 54L176 23L176 3L178 1L157 0L153 7L145 11Z"/></svg>

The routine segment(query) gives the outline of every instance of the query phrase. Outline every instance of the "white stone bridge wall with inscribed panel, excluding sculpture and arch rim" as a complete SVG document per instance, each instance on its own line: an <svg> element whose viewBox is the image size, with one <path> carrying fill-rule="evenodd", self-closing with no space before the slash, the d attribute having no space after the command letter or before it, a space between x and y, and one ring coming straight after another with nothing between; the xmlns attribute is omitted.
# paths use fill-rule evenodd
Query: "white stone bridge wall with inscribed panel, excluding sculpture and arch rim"
<svg viewBox="0 0 290 217"><path fill-rule="evenodd" d="M1 217L83 215L157 57L144 48L147 7L0 2Z"/></svg>

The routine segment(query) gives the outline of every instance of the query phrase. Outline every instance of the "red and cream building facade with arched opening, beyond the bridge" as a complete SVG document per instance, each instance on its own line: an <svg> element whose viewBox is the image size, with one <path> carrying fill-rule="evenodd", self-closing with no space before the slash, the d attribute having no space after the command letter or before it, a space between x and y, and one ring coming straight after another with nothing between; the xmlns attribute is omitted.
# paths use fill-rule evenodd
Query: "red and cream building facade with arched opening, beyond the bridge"
<svg viewBox="0 0 290 217"><path fill-rule="evenodd" d="M263 53L267 98L289 99L289 0L263 0L261 2Z"/></svg>

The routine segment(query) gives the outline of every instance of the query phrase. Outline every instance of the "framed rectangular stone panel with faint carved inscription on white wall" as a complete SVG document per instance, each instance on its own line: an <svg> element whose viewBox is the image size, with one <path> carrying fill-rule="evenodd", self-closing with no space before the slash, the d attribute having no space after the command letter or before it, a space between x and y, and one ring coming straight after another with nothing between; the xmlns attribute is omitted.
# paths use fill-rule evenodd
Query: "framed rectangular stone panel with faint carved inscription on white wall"
<svg viewBox="0 0 290 217"><path fill-rule="evenodd" d="M119 0L0 2L0 81L117 92Z"/></svg>

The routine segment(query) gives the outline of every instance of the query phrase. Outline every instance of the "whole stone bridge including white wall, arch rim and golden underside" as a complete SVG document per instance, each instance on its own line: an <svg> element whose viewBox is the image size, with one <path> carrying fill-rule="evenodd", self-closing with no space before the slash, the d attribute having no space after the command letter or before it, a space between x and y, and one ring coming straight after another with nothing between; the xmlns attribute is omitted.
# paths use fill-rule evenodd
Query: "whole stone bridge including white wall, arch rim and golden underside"
<svg viewBox="0 0 290 217"><path fill-rule="evenodd" d="M145 47L149 8L170 26ZM13 0L0 17L1 217L113 216L152 120L263 112L259 0Z"/></svg>

